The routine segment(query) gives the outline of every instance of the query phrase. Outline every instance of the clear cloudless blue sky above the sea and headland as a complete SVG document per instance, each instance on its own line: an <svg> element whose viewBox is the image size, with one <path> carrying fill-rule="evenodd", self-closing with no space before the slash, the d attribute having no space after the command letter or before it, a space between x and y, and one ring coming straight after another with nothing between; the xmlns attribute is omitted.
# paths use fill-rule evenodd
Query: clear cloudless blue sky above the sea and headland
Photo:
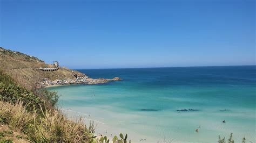
<svg viewBox="0 0 256 143"><path fill-rule="evenodd" d="M255 65L254 0L0 1L0 46L48 63Z"/></svg>

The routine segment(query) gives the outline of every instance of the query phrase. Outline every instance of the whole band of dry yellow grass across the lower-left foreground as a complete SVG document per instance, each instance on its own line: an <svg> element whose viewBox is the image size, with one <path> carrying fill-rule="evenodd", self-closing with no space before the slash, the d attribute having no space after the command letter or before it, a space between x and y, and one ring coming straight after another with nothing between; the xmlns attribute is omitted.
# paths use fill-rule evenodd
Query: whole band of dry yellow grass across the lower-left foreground
<svg viewBox="0 0 256 143"><path fill-rule="evenodd" d="M12 105L1 101L0 119L11 130L25 133L35 142L89 142L93 135L81 118L76 122L68 120L59 110L38 115L28 112L21 102Z"/></svg>

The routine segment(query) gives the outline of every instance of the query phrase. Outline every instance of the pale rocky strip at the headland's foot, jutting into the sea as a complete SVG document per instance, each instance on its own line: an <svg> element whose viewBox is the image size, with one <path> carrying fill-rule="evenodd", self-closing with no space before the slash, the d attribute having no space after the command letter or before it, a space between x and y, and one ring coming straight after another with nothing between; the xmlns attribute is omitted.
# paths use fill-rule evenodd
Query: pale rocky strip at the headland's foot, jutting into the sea
<svg viewBox="0 0 256 143"><path fill-rule="evenodd" d="M119 77L114 77L112 79L105 78L97 78L93 79L88 76L78 77L78 78L63 78L62 80L49 80L48 78L44 78L44 80L40 83L39 87L50 87L55 85L68 85L68 84L102 84L110 81L120 81L122 80Z"/></svg>

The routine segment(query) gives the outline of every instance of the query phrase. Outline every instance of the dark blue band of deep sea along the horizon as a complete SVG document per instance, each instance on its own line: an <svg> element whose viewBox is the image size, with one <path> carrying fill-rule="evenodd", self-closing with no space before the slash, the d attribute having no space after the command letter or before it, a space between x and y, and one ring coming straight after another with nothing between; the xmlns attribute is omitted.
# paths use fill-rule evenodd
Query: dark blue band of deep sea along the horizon
<svg viewBox="0 0 256 143"><path fill-rule="evenodd" d="M256 66L78 69L92 78L122 77L146 85L241 85L256 81Z"/></svg>

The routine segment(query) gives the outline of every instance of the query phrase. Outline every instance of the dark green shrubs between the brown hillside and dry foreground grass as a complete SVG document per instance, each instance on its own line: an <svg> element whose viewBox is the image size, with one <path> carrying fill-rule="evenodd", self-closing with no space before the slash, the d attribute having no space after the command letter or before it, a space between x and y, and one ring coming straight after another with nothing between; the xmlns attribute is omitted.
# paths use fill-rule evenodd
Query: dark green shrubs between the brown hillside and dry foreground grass
<svg viewBox="0 0 256 143"><path fill-rule="evenodd" d="M3 70L0 70L0 98L2 101L11 104L20 101L26 105L26 108L30 111L35 111L41 106L43 109L52 108L58 101L57 92L48 91L46 89L28 91L12 80Z"/></svg>

